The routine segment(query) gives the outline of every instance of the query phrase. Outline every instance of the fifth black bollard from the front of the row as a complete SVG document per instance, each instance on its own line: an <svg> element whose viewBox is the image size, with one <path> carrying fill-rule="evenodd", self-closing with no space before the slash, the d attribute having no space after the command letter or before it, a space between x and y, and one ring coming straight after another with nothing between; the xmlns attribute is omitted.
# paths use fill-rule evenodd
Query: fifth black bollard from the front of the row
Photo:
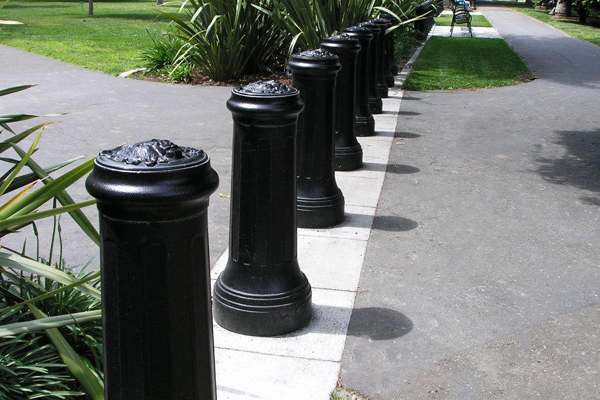
<svg viewBox="0 0 600 400"><path fill-rule="evenodd" d="M373 34L366 26L358 25L345 28L342 32L358 39L361 45L357 57L355 128L357 136L371 136L375 133L375 120L369 110L369 48Z"/></svg>

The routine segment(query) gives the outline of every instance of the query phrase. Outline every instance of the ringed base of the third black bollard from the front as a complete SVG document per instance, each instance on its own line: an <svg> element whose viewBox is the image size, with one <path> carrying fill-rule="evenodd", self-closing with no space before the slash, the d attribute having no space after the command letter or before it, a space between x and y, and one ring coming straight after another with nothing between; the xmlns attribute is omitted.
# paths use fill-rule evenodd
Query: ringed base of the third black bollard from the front
<svg viewBox="0 0 600 400"><path fill-rule="evenodd" d="M298 197L296 201L298 228L335 226L344 219L343 206L344 199L341 191L332 197L317 199Z"/></svg>

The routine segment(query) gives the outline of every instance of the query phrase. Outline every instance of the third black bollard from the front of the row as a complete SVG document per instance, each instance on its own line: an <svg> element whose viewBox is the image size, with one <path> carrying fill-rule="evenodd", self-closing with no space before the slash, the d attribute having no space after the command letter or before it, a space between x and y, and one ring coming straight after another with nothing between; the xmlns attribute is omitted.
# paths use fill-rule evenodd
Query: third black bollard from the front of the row
<svg viewBox="0 0 600 400"><path fill-rule="evenodd" d="M341 64L322 49L292 55L292 86L304 111L298 119L296 148L299 228L326 228L343 221L344 199L335 182L335 81Z"/></svg>

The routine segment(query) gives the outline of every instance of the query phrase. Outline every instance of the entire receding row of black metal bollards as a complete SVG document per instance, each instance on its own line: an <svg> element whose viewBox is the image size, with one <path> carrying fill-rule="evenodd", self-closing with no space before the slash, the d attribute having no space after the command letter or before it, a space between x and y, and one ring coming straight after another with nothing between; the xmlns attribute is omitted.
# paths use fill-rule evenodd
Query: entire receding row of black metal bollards
<svg viewBox="0 0 600 400"><path fill-rule="evenodd" d="M213 312L254 336L310 321L297 227L343 221L334 171L361 168L356 137L374 134L393 86L390 26L361 23L295 54L293 87L232 90L230 246L212 307L207 209L219 178L208 155L152 139L97 157L86 188L100 219L107 398L216 399Z"/></svg>

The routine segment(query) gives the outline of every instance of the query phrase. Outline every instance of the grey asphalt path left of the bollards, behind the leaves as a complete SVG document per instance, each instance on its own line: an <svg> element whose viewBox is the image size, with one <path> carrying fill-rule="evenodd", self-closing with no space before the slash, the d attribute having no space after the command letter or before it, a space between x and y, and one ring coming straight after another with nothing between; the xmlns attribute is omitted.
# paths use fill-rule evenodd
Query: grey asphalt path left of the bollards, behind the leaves
<svg viewBox="0 0 600 400"><path fill-rule="evenodd" d="M228 246L232 119L226 101L231 88L117 78L0 45L0 88L26 84L37 86L0 97L0 114L68 112L21 123L25 129L41 121L58 121L46 128L34 155L42 166L152 138L205 150L220 179L208 210L211 265L217 261ZM69 193L77 201L91 199L83 181ZM97 226L95 208L86 214ZM83 266L93 258L90 268L99 268L97 246L70 217L61 217L61 225L68 266ZM48 240L50 225L41 223L39 228L41 239ZM34 254L30 232L4 237L2 244L21 249L27 238L28 254Z"/></svg>

